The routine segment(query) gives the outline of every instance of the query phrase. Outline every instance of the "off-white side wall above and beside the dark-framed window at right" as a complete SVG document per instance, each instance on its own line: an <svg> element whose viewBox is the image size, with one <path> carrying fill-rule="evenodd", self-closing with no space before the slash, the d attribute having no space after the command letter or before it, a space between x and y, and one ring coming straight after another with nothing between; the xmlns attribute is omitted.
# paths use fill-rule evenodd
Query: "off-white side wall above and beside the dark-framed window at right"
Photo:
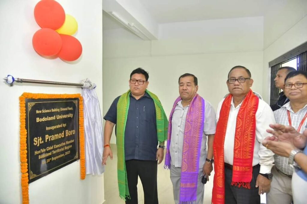
<svg viewBox="0 0 307 204"><path fill-rule="evenodd" d="M270 100L269 62L307 41L307 1L283 1L268 10L264 16L263 51L263 98L267 102Z"/></svg>

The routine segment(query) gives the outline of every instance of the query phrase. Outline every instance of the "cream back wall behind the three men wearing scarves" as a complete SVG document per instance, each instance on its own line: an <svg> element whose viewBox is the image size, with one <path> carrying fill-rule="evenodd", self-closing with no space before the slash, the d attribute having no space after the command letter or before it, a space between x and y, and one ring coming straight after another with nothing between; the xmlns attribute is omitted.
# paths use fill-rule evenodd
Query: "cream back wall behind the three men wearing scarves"
<svg viewBox="0 0 307 204"><path fill-rule="evenodd" d="M263 18L238 18L161 24L159 40L143 41L125 29L103 32L103 115L113 100L129 89L137 67L149 72L148 89L160 98L169 115L178 93L178 77L190 72L198 93L212 103L228 93L229 70L251 70L253 90L262 93ZM111 143L116 143L115 136Z"/></svg>

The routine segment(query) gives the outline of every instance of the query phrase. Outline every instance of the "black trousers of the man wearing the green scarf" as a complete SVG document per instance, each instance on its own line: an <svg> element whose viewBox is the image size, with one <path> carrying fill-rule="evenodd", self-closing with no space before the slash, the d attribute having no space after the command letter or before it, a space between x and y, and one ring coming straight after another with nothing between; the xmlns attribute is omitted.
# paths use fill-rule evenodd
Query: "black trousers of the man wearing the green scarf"
<svg viewBox="0 0 307 204"><path fill-rule="evenodd" d="M138 204L138 176L140 176L145 204L158 204L157 161L127 160L126 171L130 198L126 204Z"/></svg>

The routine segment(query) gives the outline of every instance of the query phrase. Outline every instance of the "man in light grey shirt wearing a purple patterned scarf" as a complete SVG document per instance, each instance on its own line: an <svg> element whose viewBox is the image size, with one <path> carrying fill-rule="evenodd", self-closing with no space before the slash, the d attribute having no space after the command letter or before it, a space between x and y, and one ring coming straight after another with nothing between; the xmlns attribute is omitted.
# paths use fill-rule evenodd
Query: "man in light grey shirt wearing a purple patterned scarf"
<svg viewBox="0 0 307 204"><path fill-rule="evenodd" d="M170 168L175 203L202 204L205 175L209 180L213 163L216 113L197 94L196 76L179 77L179 94L169 117L165 167ZM207 154L208 135L208 154Z"/></svg>

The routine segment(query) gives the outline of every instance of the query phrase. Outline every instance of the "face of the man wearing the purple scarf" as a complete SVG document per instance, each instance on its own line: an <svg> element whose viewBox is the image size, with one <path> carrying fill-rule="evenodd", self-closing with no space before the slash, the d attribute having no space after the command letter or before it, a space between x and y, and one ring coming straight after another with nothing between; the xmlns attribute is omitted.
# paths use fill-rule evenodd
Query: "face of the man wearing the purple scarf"
<svg viewBox="0 0 307 204"><path fill-rule="evenodd" d="M194 84L193 76L181 77L179 80L179 94L182 100L191 100L198 90Z"/></svg>

